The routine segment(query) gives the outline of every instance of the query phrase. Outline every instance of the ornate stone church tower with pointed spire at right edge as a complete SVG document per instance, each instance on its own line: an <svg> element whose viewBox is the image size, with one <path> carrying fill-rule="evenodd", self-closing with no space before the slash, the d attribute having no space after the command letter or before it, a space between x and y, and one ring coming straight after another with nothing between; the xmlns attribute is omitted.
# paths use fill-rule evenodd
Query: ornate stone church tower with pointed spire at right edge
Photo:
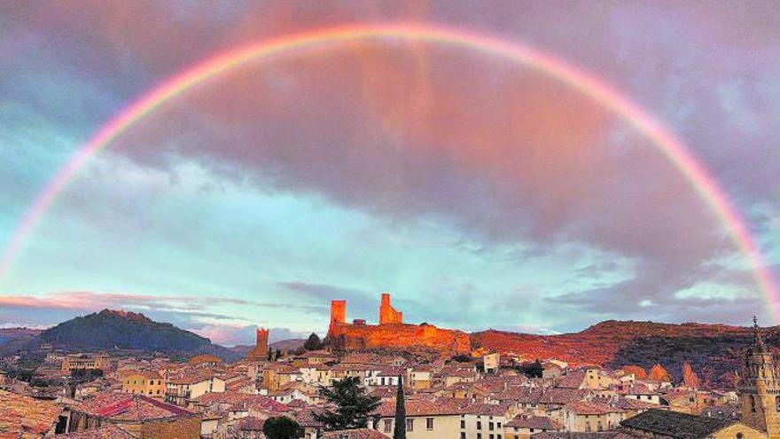
<svg viewBox="0 0 780 439"><path fill-rule="evenodd" d="M739 385L742 422L780 439L780 381L775 356L764 345L753 317L753 346L745 354L745 376Z"/></svg>

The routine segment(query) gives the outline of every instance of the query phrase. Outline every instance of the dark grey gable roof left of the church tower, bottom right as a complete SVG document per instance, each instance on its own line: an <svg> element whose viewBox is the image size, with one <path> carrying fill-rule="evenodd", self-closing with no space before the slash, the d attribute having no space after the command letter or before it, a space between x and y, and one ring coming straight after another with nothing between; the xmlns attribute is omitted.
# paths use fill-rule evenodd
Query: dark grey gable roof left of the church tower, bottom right
<svg viewBox="0 0 780 439"><path fill-rule="evenodd" d="M623 427L675 439L698 439L730 427L736 419L708 418L681 412L651 409L620 422Z"/></svg>

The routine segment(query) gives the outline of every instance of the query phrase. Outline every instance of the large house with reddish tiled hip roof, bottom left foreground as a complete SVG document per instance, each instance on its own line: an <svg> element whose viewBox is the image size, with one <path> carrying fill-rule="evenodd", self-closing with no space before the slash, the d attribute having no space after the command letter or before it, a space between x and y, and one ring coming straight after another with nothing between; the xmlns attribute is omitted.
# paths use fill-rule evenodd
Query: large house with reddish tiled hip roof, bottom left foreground
<svg viewBox="0 0 780 439"><path fill-rule="evenodd" d="M149 396L103 392L69 407L67 432L113 425L138 439L199 439L200 415Z"/></svg>

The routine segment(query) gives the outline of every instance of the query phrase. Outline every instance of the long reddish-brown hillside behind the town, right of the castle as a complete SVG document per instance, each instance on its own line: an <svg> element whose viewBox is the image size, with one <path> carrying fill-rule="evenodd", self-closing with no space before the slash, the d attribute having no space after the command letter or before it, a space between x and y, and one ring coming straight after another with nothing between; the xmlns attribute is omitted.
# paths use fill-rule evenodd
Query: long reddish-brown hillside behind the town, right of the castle
<svg viewBox="0 0 780 439"><path fill-rule="evenodd" d="M780 333L764 329L768 346L777 346ZM534 335L489 330L471 334L474 348L514 352L528 358L558 358L573 365L607 367L660 363L682 378L689 362L702 380L725 384L740 367L753 329L729 325L682 325L609 320L581 331L560 335Z"/></svg>

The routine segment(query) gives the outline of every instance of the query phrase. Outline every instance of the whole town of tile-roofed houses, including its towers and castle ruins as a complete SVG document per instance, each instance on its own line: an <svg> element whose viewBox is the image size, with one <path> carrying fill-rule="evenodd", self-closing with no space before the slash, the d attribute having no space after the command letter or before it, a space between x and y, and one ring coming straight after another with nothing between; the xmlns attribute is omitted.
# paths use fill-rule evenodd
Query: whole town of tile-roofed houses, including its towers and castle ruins
<svg viewBox="0 0 780 439"><path fill-rule="evenodd" d="M365 325L345 323L345 307L334 301L331 326ZM378 323L404 325L389 294ZM660 365L610 370L513 352L432 359L334 349L316 335L282 352L269 349L264 329L234 363L44 346L51 349L38 371L51 379L45 389L0 373L0 437L263 438L264 425L277 419L292 421L300 439L394 437L398 422L410 439L777 437L775 358L758 326L753 337L739 386L722 389L701 388L690 366L673 383ZM364 417L331 422L328 413L347 404L334 394L347 385L366 402Z"/></svg>

